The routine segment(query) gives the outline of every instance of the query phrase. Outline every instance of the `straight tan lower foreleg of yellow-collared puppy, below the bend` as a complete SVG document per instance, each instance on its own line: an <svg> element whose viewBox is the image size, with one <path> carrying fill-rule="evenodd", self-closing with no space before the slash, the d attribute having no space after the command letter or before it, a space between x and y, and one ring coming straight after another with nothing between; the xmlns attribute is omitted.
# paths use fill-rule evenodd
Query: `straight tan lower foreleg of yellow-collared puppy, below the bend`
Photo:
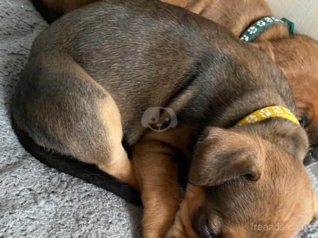
<svg viewBox="0 0 318 238"><path fill-rule="evenodd" d="M143 138L133 148L141 189L144 237L165 237L180 203L175 151L161 141Z"/></svg>

